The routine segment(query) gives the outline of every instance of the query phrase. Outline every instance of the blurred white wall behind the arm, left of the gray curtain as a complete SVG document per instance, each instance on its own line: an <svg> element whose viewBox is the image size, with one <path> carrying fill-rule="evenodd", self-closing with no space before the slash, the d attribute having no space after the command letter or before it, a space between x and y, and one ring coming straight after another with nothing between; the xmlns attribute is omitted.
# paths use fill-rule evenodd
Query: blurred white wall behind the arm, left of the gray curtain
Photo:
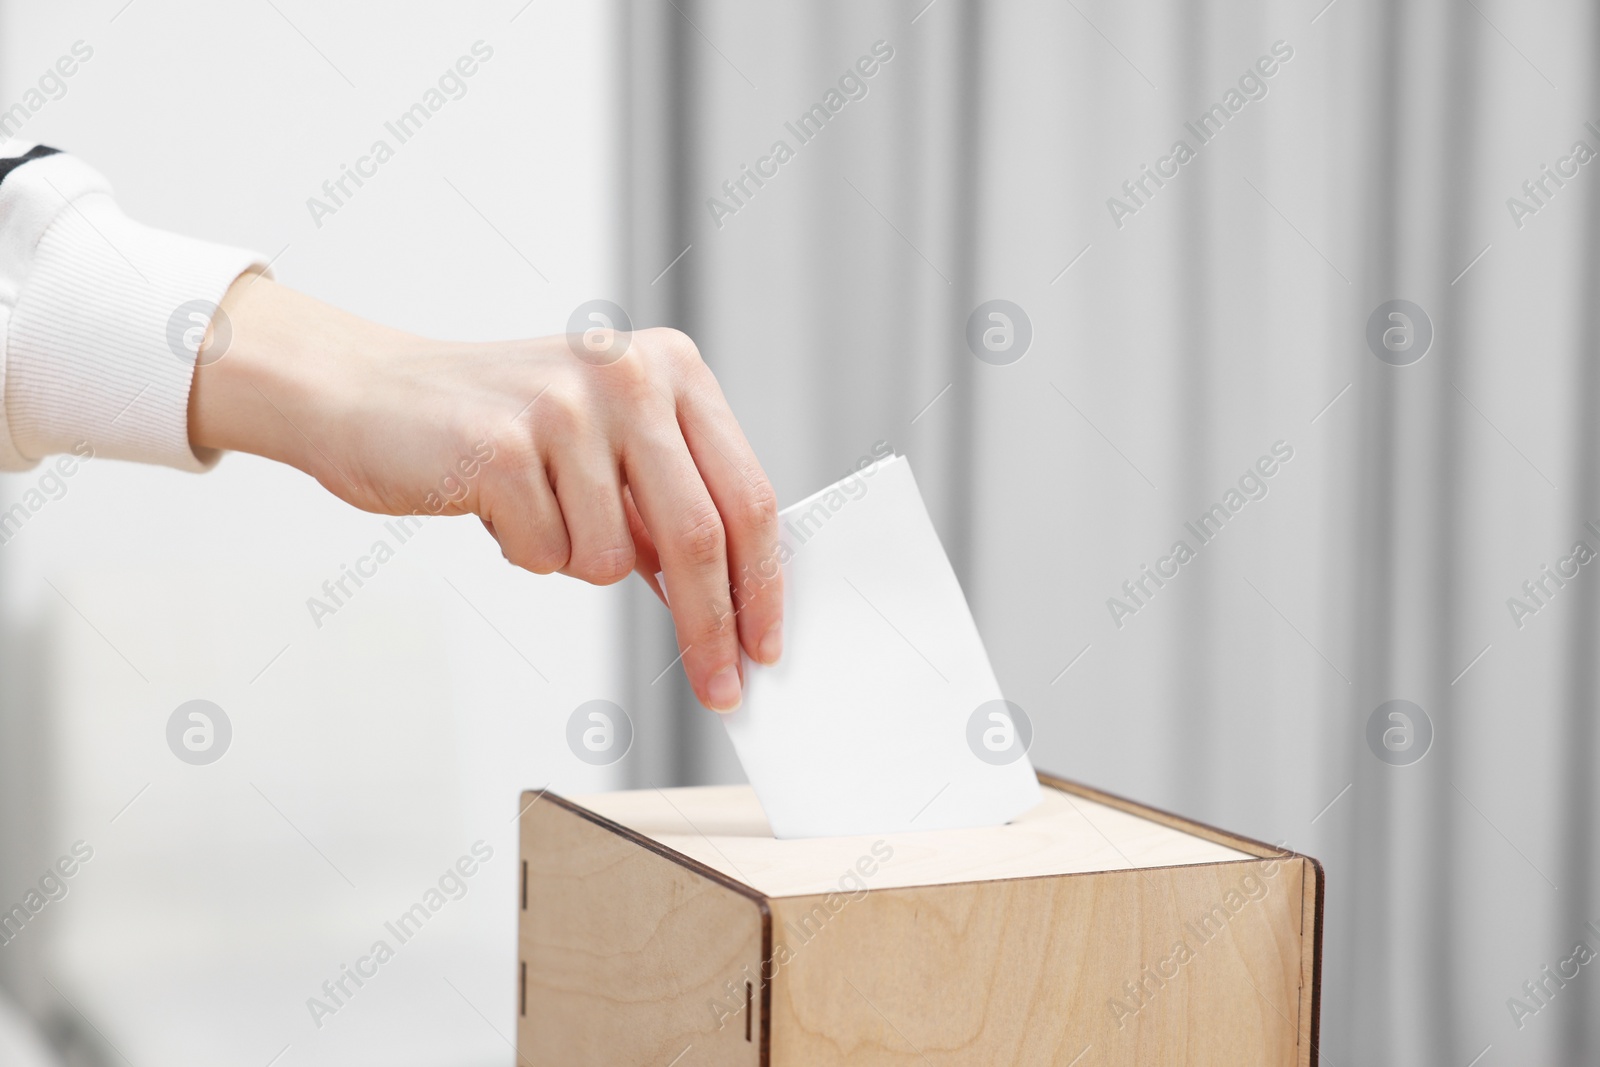
<svg viewBox="0 0 1600 1067"><path fill-rule="evenodd" d="M282 282L435 336L554 333L613 294L605 5L123 3L0 5L0 107L86 42L21 136L102 170L134 218L262 250ZM477 40L494 53L467 94L314 226L307 197ZM35 478L0 477L0 506ZM10 795L35 801L8 813L26 843L0 899L94 848L0 949L30 1008L70 1017L70 1000L136 1064L510 1059L517 793L610 782L563 728L621 697L619 600L437 518L317 629L306 598L381 536L310 478L229 456L205 477L91 462L0 547L3 715L13 734L50 721L37 757L6 757L30 782ZM19 664L27 633L46 654ZM18 672L42 699L16 699ZM232 720L211 766L166 747L194 697ZM314 1027L307 997L395 944L382 923L480 838L494 856L467 896Z"/></svg>

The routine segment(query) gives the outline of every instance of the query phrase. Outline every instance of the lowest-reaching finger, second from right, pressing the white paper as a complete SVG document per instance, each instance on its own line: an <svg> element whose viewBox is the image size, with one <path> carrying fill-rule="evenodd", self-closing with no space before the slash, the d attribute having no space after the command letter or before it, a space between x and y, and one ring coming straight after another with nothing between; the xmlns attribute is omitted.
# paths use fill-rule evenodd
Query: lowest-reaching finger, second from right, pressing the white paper
<svg viewBox="0 0 1600 1067"><path fill-rule="evenodd" d="M731 712L744 697L722 515L677 424L640 429L622 469L659 553L683 672L701 704Z"/></svg>

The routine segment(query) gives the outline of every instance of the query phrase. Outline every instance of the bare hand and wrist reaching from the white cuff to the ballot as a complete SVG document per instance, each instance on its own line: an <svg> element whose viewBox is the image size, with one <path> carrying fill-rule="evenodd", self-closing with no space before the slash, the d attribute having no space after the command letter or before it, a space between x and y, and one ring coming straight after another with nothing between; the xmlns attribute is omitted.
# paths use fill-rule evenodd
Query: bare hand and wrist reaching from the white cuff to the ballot
<svg viewBox="0 0 1600 1067"><path fill-rule="evenodd" d="M733 710L739 646L782 651L773 490L685 334L586 339L427 341L246 275L200 349L189 438L368 512L478 515L539 574L637 569L670 603L694 694Z"/></svg>

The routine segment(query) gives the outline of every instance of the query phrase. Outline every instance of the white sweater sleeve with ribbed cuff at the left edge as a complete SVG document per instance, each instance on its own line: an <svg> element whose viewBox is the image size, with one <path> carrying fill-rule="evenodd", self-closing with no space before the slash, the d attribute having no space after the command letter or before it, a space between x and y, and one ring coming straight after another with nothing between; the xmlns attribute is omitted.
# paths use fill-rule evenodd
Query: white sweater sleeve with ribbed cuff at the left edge
<svg viewBox="0 0 1600 1067"><path fill-rule="evenodd" d="M261 256L126 218L94 170L0 144L0 470L61 451L203 470L195 350Z"/></svg>

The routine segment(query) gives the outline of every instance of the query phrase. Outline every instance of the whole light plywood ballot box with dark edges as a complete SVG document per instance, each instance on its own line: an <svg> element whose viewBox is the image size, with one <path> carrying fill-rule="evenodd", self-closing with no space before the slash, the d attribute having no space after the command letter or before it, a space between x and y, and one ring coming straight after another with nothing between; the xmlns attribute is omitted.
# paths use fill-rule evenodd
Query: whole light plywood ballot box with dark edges
<svg viewBox="0 0 1600 1067"><path fill-rule="evenodd" d="M523 793L518 1062L1317 1064L1317 861L1040 782L784 841L746 785Z"/></svg>

